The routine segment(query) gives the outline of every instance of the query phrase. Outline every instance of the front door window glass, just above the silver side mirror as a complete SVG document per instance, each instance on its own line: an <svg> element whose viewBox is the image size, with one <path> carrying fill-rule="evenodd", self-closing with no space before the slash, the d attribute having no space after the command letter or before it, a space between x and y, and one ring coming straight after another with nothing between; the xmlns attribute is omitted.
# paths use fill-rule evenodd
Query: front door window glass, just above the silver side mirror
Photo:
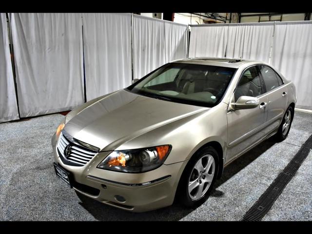
<svg viewBox="0 0 312 234"><path fill-rule="evenodd" d="M235 101L241 96L257 97L262 93L261 80L256 67L248 68L238 81L234 92Z"/></svg>

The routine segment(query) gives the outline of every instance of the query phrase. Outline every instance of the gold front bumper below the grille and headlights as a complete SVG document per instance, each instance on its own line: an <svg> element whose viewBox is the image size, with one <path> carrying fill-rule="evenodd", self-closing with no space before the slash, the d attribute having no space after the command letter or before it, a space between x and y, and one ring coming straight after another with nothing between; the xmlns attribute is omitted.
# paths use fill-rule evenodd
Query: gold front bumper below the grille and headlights
<svg viewBox="0 0 312 234"><path fill-rule="evenodd" d="M170 206L175 198L179 178L187 161L159 168L145 173L130 174L98 169L98 164L110 152L100 152L84 166L69 166L62 162L57 152L57 137L52 137L54 160L59 166L73 175L73 188L79 193L96 199L101 203L117 208L145 212ZM82 185L82 186L79 186ZM98 193L89 191L86 186L95 188ZM118 201L122 196L125 201ZM119 199L120 200L120 199Z"/></svg>

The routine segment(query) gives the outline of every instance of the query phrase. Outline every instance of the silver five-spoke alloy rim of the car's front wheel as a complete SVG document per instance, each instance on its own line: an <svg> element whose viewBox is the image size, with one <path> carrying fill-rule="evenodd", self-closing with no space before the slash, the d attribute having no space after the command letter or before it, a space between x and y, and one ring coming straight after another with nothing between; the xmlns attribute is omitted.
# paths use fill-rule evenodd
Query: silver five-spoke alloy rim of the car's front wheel
<svg viewBox="0 0 312 234"><path fill-rule="evenodd" d="M192 200L203 197L215 175L215 159L212 155L204 155L196 162L189 177L188 192Z"/></svg>

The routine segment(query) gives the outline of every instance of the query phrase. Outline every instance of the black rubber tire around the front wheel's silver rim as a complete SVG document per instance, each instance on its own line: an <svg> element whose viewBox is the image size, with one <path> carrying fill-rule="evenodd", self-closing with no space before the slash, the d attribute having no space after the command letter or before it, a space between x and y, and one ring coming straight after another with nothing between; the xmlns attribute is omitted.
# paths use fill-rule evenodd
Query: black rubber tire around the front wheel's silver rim
<svg viewBox="0 0 312 234"><path fill-rule="evenodd" d="M195 167L195 164L197 163L197 161L205 155L211 155L213 156L213 158L215 159L215 174L213 177L213 180L211 183L209 183L209 189L207 190L207 192L199 199L194 200L190 197L189 195L189 181L191 178L191 174L193 172L193 169ZM186 165L182 176L180 178L179 181L179 185L177 188L177 199L180 203L182 203L183 205L187 206L187 207L197 207L199 205L201 205L210 195L213 187L214 187L214 183L215 183L215 178L217 176L218 173L218 168L219 168L219 160L218 160L218 153L216 152L216 150L211 147L204 147L203 149L200 149L198 152L196 152L196 154L190 159L190 161L188 162L188 164ZM202 159L203 160L203 159ZM206 185L208 186L208 185Z"/></svg>

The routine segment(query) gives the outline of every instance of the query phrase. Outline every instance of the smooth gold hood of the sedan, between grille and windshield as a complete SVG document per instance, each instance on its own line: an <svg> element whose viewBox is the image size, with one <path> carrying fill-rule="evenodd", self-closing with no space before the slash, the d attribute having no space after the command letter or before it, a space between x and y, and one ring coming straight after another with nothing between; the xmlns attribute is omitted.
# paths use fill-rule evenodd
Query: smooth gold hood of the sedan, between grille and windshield
<svg viewBox="0 0 312 234"><path fill-rule="evenodd" d="M64 131L101 151L109 151L157 127L206 109L119 90L82 110L65 125Z"/></svg>

